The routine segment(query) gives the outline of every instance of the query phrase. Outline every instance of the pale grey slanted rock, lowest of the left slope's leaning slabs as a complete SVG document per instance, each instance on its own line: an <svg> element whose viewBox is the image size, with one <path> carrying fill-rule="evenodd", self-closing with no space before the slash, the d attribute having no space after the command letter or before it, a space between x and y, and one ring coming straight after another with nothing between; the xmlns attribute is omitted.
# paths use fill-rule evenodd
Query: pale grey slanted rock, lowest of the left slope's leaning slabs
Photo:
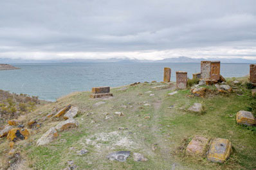
<svg viewBox="0 0 256 170"><path fill-rule="evenodd" d="M37 140L37 146L50 144L50 142L57 139L57 137L58 137L57 130L56 128L52 127L46 133L44 133L39 140Z"/></svg>

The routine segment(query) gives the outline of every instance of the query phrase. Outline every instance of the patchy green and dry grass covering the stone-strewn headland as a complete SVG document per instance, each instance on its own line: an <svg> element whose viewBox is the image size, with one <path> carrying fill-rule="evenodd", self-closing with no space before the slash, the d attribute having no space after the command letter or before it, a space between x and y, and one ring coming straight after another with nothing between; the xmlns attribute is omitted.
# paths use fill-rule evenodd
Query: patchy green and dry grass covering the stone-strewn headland
<svg viewBox="0 0 256 170"><path fill-rule="evenodd" d="M228 83L235 78L229 79ZM244 79L239 78L239 81ZM235 123L235 115L239 110L250 106L250 90L245 85L233 85L242 91L242 96L236 93L229 95L214 95L209 98L192 98L190 90L179 90L177 94L168 96L174 91L175 85L169 89L151 89L162 83L140 83L111 89L114 98L90 99L89 92L76 92L55 103L41 106L30 119L40 119L53 108L62 108L68 104L79 108L76 118L77 129L61 132L59 138L46 146L36 146L35 142L42 133L51 126L62 121L46 119L42 127L30 137L30 144L16 144L32 169L64 169L68 160L78 166L78 169L253 169L256 163L256 134L251 128ZM207 87L214 90L214 86ZM152 92L146 93L149 90ZM155 94L149 96L149 94ZM104 101L99 106L95 103ZM149 103L150 106L144 106ZM193 103L202 103L205 112L201 115L187 112ZM169 106L173 108L168 108ZM42 112L41 115L37 112ZM88 112L93 114L87 116ZM108 112L111 119L105 119ZM118 117L114 112L123 112ZM144 119L150 116L150 119ZM119 129L119 128L123 129ZM255 127L253 127L255 128ZM215 164L203 158L187 157L185 146L195 135L203 135L208 139L221 137L232 142L231 157L224 164ZM5 139L0 140L0 146L6 146ZM152 145L157 149L152 151ZM89 152L84 156L76 151L85 148ZM149 160L134 162L129 157L126 162L107 160L106 156L113 151L131 151L142 153ZM0 149L0 157L5 157L8 149ZM25 156L26 155L26 156Z"/></svg>

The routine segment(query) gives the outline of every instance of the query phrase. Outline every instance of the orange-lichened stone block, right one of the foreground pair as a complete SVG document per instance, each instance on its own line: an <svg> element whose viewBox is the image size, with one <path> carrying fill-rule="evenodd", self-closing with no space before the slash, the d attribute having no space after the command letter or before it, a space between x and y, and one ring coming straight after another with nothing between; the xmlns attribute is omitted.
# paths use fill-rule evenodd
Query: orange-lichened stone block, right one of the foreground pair
<svg viewBox="0 0 256 170"><path fill-rule="evenodd" d="M215 138L210 144L207 159L212 162L224 162L231 153L231 142L228 139Z"/></svg>

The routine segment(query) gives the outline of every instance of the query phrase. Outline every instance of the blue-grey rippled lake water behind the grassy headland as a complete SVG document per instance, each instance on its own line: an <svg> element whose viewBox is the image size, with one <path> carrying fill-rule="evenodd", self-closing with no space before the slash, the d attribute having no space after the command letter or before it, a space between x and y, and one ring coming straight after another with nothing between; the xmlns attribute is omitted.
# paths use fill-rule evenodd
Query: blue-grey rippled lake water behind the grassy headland
<svg viewBox="0 0 256 170"><path fill-rule="evenodd" d="M0 89L17 94L30 94L40 99L55 101L75 91L91 90L91 87L118 87L137 81L162 81L163 67L172 69L172 81L176 71L200 72L200 64L184 63L72 63L72 64L12 64L19 70L0 71ZM250 64L221 64L224 77L249 74Z"/></svg>

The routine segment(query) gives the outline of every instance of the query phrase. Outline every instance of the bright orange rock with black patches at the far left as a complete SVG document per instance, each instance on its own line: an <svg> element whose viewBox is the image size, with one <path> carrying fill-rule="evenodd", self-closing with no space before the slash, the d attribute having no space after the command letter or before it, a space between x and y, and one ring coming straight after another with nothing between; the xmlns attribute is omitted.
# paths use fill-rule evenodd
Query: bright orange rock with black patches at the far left
<svg viewBox="0 0 256 170"><path fill-rule="evenodd" d="M28 139L29 136L30 132L27 129L14 128L8 133L7 139L15 142L16 140Z"/></svg>

